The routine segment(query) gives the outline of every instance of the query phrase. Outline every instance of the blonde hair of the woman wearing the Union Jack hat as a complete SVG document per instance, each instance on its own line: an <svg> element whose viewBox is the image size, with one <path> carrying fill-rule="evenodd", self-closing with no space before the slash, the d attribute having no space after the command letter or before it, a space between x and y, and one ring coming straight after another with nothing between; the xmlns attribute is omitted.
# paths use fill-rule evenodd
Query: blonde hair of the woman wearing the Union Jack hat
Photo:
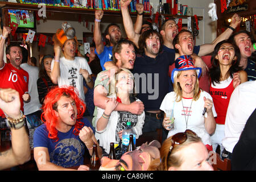
<svg viewBox="0 0 256 182"><path fill-rule="evenodd" d="M175 98L176 102L181 101L181 98L182 98L182 89L180 87L180 83L177 82L177 78L180 77L181 72L182 71L179 71L177 73L177 75L174 77L174 92L176 93L176 98ZM197 72L196 72L196 84L195 84L194 94L193 94L194 101L199 100L200 93L201 93L201 89L199 88L199 80L198 80L198 76L197 76Z"/></svg>

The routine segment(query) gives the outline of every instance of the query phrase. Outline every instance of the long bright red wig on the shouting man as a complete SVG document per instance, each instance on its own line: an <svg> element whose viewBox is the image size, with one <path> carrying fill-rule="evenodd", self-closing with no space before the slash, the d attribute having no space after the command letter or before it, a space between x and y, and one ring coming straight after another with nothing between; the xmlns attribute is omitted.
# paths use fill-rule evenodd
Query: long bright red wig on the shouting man
<svg viewBox="0 0 256 182"><path fill-rule="evenodd" d="M55 142L57 142L59 138L57 138L57 117L54 110L57 109L57 101L60 100L61 96L71 97L76 102L77 121L75 124L75 129L73 130L73 134L79 135L79 130L81 130L81 128L84 126L84 123L82 123L80 120L82 118L82 115L84 114L86 106L78 95L78 90L73 86L61 86L52 89L44 99L44 104L42 106L43 113L41 119L44 123L46 123L46 128L49 132L48 137L50 139L56 139Z"/></svg>

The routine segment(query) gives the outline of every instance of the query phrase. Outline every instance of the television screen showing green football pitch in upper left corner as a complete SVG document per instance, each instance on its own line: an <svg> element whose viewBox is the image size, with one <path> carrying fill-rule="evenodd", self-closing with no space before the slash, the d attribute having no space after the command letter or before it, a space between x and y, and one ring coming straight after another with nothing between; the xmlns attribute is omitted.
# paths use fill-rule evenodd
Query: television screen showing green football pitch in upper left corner
<svg viewBox="0 0 256 182"><path fill-rule="evenodd" d="M18 23L18 29L20 28L31 28L35 29L35 17L34 11L30 10L8 10L8 14L10 15L11 21L14 23ZM25 18L26 16L26 18ZM25 21L24 21L25 20ZM27 21L27 23L26 23Z"/></svg>

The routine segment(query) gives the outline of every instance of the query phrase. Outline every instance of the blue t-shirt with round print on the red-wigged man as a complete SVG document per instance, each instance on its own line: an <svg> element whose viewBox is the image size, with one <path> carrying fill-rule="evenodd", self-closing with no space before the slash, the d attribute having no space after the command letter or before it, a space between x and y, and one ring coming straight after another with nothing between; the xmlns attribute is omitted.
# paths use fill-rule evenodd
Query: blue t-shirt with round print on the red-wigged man
<svg viewBox="0 0 256 182"><path fill-rule="evenodd" d="M82 118L81 122L84 126L91 127L93 133L95 130L86 118ZM34 133L34 147L48 148L50 162L57 166L69 168L84 164L85 144L79 138L79 135L73 134L73 126L67 133L58 131L57 137L59 140L48 138L46 125L40 125Z"/></svg>

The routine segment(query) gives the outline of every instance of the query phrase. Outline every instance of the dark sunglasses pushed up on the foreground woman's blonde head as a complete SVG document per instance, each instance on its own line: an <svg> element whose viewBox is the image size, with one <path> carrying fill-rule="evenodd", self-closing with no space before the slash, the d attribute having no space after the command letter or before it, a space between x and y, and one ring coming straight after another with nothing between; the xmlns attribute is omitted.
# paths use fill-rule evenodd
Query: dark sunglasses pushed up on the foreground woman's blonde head
<svg viewBox="0 0 256 182"><path fill-rule="evenodd" d="M174 145L175 144L182 144L187 140L187 138L188 138L187 134L194 135L194 136L197 137L197 134L195 132L193 132L192 130L185 130L184 133L176 133L174 136L172 136L172 139L171 139L172 144L169 148L169 152L168 152L166 161L168 161L168 159L171 155L172 149L174 148Z"/></svg>

